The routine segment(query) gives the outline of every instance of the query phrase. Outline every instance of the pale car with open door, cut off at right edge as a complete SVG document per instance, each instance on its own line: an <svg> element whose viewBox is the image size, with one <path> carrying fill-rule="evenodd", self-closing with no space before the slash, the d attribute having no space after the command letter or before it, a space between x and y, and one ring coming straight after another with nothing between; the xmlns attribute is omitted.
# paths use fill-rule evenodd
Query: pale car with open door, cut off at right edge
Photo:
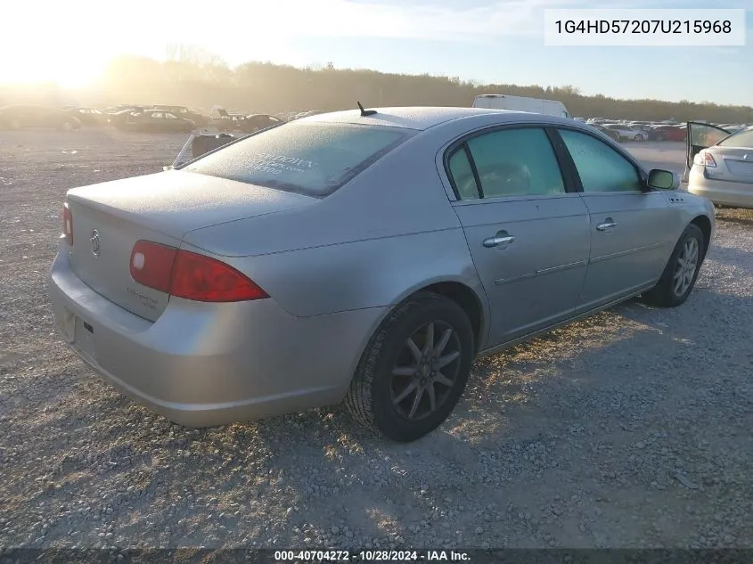
<svg viewBox="0 0 753 564"><path fill-rule="evenodd" d="M717 206L753 208L753 127L731 133L688 122L688 192Z"/></svg>

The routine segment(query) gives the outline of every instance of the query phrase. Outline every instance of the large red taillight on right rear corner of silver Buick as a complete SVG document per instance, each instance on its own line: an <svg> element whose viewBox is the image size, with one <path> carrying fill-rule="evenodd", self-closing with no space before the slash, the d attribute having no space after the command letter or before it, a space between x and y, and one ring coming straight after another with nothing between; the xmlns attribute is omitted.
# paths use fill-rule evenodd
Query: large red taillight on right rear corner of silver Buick
<svg viewBox="0 0 753 564"><path fill-rule="evenodd" d="M211 302L269 298L232 266L151 241L136 242L130 268L136 282L177 298Z"/></svg>

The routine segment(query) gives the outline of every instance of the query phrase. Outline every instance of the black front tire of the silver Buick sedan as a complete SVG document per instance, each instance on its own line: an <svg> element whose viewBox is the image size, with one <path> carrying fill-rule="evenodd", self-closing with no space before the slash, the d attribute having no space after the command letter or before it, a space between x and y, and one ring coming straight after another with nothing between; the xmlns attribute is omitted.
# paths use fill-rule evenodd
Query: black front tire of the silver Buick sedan
<svg viewBox="0 0 753 564"><path fill-rule="evenodd" d="M695 265L693 266L694 272L690 274L690 282L681 284L678 287L677 276L688 275L687 270L685 274L681 273L683 269L682 257L688 252L688 245L693 245L691 241L695 241L695 248L697 249L697 257ZM698 279L698 273L700 272L700 266L703 264L703 259L706 257L706 239L703 236L703 232L700 231L700 227L695 224L690 224L685 227L685 231L680 236L679 241L675 245L675 250L672 252L672 256L667 261L667 266L664 268L664 273L661 274L659 282L651 290L645 292L641 299L651 306L657 307L677 307L684 303L684 301L690 296L695 281ZM686 279L687 280L687 279ZM680 291L681 290L681 291Z"/></svg>

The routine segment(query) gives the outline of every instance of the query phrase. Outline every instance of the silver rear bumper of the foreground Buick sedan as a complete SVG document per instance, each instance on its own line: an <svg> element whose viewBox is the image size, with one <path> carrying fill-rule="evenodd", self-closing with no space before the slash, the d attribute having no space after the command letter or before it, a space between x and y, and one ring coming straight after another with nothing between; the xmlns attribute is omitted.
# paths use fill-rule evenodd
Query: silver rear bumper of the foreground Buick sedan
<svg viewBox="0 0 753 564"><path fill-rule="evenodd" d="M49 292L55 323L78 356L127 396L189 427L339 402L381 318L381 309L304 318L273 299L172 298L151 323L81 282L64 248Z"/></svg>

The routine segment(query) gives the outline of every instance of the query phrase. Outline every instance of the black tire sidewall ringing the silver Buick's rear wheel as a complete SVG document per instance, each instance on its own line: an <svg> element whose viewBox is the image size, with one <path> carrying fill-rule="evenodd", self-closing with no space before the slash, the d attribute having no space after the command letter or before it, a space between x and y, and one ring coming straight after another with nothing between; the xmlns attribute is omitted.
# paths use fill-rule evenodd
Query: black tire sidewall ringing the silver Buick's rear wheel
<svg viewBox="0 0 753 564"><path fill-rule="evenodd" d="M473 354L471 322L461 307L450 299L439 297L413 303L415 305L410 307L405 315L397 320L397 323L390 323L387 328L382 330L386 332L374 365L371 382L374 422L384 435L398 442L407 442L422 437L446 420L462 396L475 356ZM392 398L389 393L392 369L408 337L431 321L448 323L456 331L461 346L460 367L454 388L447 397L445 404L439 407L435 413L431 413L422 420L408 421L397 413L392 405Z"/></svg>

